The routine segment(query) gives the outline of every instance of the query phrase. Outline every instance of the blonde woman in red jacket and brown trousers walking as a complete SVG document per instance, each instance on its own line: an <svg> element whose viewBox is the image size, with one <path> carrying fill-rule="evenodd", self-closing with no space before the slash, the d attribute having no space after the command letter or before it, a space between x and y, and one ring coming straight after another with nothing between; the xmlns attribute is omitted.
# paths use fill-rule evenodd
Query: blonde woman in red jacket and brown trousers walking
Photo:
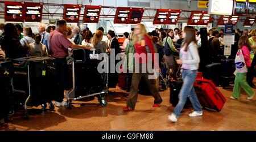
<svg viewBox="0 0 256 142"><path fill-rule="evenodd" d="M141 81L142 78L147 83L148 88L150 88L152 96L155 98L153 107L159 106L163 101L158 93L158 89L156 88L155 80L148 78L150 75L153 75L153 73L148 70L145 70L146 72L143 72L143 70L148 68L147 66L149 64L152 64L152 61L154 61L155 49L152 44L152 41L150 37L147 36L147 31L143 24L137 24L134 28L134 33L136 35L134 36L133 39L135 48L135 72L133 73L133 77L131 79L130 93L126 101L127 106L123 107L124 111L133 110L135 108L138 98L139 82ZM147 56L149 55L148 53L151 53L151 59L147 59ZM141 58L143 56L146 58ZM157 66L157 64L158 62L154 62L155 67ZM139 72L137 69L139 69Z"/></svg>

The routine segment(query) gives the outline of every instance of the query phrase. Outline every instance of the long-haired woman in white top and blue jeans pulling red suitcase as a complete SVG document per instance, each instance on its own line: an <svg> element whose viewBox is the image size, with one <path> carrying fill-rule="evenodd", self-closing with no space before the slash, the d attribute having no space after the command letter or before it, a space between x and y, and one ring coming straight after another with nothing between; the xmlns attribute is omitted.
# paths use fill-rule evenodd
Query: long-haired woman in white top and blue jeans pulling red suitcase
<svg viewBox="0 0 256 142"><path fill-rule="evenodd" d="M172 122L177 122L180 113L183 110L187 98L191 101L194 111L189 114L189 117L203 115L201 105L197 99L193 83L196 80L197 69L200 63L198 46L196 43L196 31L191 26L186 26L182 32L184 38L180 49L180 59L176 60L177 64L181 64L183 85L179 92L179 102L174 108L174 112L168 116Z"/></svg>

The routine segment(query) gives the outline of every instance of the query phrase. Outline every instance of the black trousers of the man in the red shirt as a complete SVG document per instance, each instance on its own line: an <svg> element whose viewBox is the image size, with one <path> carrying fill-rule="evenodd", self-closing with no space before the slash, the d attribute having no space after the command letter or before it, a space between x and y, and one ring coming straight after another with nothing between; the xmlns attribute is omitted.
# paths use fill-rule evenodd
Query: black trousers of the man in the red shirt
<svg viewBox="0 0 256 142"><path fill-rule="evenodd" d="M66 59L56 58L56 70L57 70L57 87L54 100L57 102L62 102L64 98L64 90L70 89L68 87L68 64Z"/></svg>

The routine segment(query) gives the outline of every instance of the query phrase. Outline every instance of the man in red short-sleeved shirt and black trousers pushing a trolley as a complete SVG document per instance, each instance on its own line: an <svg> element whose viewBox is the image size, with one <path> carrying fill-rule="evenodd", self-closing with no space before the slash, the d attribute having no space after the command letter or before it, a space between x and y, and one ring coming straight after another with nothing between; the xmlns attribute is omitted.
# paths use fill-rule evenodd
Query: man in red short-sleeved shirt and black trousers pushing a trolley
<svg viewBox="0 0 256 142"><path fill-rule="evenodd" d="M67 87L67 61L68 48L84 48L91 49L90 46L75 45L65 36L65 29L67 29L67 21L64 19L57 20L57 28L49 35L49 55L56 58L56 70L57 70L57 94L55 95L55 105L65 106L67 102L63 101L64 90L69 89Z"/></svg>

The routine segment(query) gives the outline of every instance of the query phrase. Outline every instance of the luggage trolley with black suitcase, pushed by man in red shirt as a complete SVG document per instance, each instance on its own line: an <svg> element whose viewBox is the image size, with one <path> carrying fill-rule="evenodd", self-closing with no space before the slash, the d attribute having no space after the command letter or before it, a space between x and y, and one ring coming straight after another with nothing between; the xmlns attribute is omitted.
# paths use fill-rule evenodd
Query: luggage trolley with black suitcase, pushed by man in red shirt
<svg viewBox="0 0 256 142"><path fill-rule="evenodd" d="M72 108L72 100L97 96L102 106L108 102L105 96L108 93L108 74L100 74L97 70L98 63L105 62L98 60L97 50L73 49L72 62L72 89L65 94L68 109Z"/></svg>

